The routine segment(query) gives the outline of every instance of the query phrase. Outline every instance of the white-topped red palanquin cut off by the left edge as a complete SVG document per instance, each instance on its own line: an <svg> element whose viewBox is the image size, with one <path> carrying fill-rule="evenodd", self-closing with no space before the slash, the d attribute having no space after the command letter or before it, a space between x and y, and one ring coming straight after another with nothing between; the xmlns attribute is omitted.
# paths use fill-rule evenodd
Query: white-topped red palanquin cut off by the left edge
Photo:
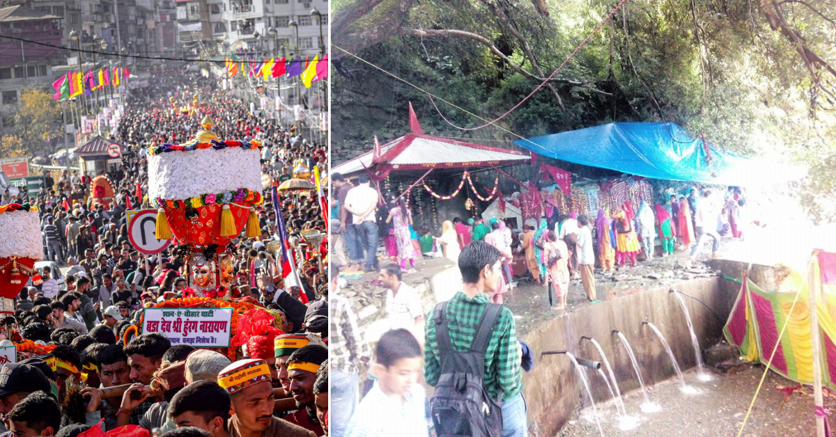
<svg viewBox="0 0 836 437"><path fill-rule="evenodd" d="M12 299L29 278L37 285L35 262L43 260L38 208L10 203L0 206L0 311L13 311ZM3 318L6 313L0 313Z"/></svg>

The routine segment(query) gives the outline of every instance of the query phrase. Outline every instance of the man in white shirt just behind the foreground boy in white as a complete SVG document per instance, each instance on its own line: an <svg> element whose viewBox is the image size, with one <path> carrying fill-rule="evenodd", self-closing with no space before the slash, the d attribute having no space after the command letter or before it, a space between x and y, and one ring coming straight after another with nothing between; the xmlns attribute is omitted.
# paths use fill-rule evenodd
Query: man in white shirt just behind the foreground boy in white
<svg viewBox="0 0 836 437"><path fill-rule="evenodd" d="M392 263L380 268L380 282L386 290L386 313L389 313L390 329L409 329L423 343L424 309L421 296L415 288L400 281L401 271Z"/></svg>

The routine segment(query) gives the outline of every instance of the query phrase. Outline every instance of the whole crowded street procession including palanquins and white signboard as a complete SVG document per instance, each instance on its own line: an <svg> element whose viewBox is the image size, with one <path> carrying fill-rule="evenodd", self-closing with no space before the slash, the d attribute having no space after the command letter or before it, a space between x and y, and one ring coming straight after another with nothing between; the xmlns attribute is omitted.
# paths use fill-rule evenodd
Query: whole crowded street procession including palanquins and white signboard
<svg viewBox="0 0 836 437"><path fill-rule="evenodd" d="M3 196L2 435L326 434L324 138L199 71L125 108Z"/></svg>

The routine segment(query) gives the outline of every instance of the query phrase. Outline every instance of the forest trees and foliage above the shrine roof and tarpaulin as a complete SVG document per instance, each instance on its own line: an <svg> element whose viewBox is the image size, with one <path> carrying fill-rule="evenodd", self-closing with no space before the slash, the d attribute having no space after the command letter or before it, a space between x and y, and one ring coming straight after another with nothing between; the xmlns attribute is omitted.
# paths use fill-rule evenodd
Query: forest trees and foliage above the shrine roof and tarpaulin
<svg viewBox="0 0 836 437"><path fill-rule="evenodd" d="M836 217L836 2L830 0L337 0L335 162L372 135L425 130L510 143L613 121L674 121L716 147L807 165L813 218ZM590 36L591 35L591 36ZM495 119L574 54L503 129L457 130L431 94ZM436 100L460 126L484 124ZM507 131L512 132L509 134Z"/></svg>

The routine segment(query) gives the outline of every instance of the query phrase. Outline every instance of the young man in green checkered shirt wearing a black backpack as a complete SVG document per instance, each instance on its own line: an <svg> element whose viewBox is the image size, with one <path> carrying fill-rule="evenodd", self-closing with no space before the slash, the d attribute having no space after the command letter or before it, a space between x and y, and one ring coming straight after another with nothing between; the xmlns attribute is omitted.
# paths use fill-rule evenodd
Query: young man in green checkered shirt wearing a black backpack
<svg viewBox="0 0 836 437"><path fill-rule="evenodd" d="M424 379L438 437L525 437L520 346L511 310L489 301L502 276L502 254L483 241L458 259L464 282L426 321Z"/></svg>

